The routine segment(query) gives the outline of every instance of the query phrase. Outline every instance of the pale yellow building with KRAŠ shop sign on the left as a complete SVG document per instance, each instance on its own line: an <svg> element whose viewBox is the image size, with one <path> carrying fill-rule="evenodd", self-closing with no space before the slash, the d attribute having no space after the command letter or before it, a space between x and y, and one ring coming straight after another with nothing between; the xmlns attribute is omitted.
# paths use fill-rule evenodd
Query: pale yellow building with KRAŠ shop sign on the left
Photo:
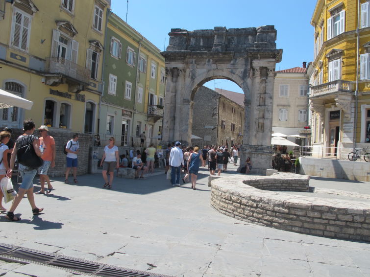
<svg viewBox="0 0 370 277"><path fill-rule="evenodd" d="M0 126L30 117L53 131L96 132L110 0L0 5L0 86L34 102L30 111L1 110Z"/></svg>

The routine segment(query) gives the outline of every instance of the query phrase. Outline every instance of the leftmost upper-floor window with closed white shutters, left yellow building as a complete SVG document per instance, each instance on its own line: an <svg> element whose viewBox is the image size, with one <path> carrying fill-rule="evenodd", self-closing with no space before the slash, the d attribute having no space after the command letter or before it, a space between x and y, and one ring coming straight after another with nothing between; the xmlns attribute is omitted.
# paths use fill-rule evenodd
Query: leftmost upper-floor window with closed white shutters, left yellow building
<svg viewBox="0 0 370 277"><path fill-rule="evenodd" d="M14 8L11 45L28 52L29 37L31 32L30 15Z"/></svg>

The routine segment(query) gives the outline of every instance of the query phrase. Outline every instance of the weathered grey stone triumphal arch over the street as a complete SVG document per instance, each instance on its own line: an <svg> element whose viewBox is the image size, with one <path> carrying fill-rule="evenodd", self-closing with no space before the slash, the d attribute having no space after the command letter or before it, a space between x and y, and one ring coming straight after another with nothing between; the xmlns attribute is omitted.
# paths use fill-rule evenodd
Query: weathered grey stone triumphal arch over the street
<svg viewBox="0 0 370 277"><path fill-rule="evenodd" d="M256 173L271 168L272 97L276 49L273 25L258 28L187 31L171 29L162 52L166 63L164 142L191 142L193 98L199 87L213 79L228 79L245 94L244 144L241 161L250 157Z"/></svg>

